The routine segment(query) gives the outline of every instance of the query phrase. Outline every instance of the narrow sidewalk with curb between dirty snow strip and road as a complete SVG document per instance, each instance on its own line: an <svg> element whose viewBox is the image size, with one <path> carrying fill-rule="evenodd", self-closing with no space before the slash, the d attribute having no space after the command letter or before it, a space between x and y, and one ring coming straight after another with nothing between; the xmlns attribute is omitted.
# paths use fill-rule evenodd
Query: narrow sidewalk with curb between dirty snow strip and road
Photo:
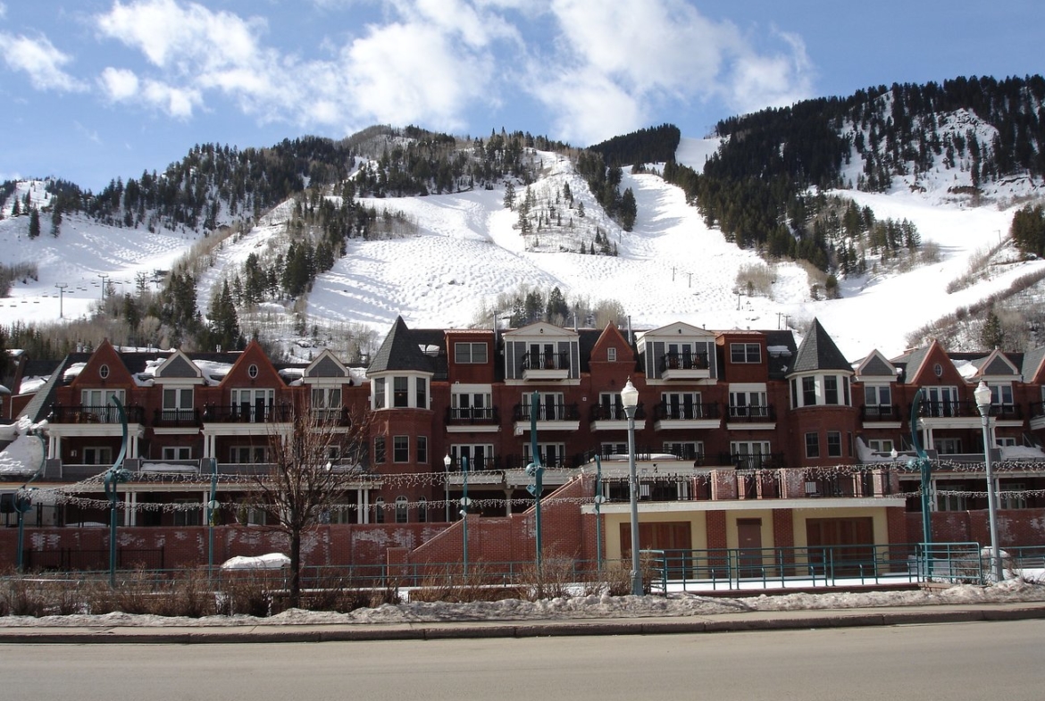
<svg viewBox="0 0 1045 701"><path fill-rule="evenodd" d="M657 635L1045 618L1045 602L743 611L679 617L282 626L0 627L0 645L331 642L551 635Z"/></svg>

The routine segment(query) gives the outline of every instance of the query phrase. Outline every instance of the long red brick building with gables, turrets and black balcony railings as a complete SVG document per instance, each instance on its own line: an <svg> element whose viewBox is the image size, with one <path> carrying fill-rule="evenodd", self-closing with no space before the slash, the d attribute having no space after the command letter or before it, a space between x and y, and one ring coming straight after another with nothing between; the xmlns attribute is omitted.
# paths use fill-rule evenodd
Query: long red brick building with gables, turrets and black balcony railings
<svg viewBox="0 0 1045 701"><path fill-rule="evenodd" d="M948 354L937 344L852 363L817 322L799 346L789 330L683 323L634 332L544 323L443 330L398 319L366 367L328 351L308 364L274 363L257 344L237 353L143 353L106 343L54 364L34 394L8 401L13 415L43 422L46 459L39 474L40 465L0 472L3 518L13 522L14 494L32 477L27 548L108 538L91 524L109 520L100 475L123 444L115 397L127 420L122 464L131 475L118 490L121 547L173 548L168 566L205 560L204 504L215 469L217 557L278 550L250 507L246 477L265 473L270 441L289 429L295 406L306 406L346 431L349 416L370 417L362 457L328 455L334 464L358 460L365 472L306 543L309 564L458 559L466 490L471 557L532 558L526 467L534 426L545 551L595 557L598 472L602 553L619 558L630 550L620 399L630 379L640 392L643 547L922 540L919 474L906 468L919 391L918 430L934 459L933 536L984 541L983 441L972 393L985 381L1000 540L1040 544L1043 366L1043 349ZM0 532L8 563L13 531Z"/></svg>

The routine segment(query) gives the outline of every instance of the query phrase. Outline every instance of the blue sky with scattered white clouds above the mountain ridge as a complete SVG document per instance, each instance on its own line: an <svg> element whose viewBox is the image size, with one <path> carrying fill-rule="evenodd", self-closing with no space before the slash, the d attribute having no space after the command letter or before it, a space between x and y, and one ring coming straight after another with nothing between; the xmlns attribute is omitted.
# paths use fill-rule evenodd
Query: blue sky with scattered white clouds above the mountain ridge
<svg viewBox="0 0 1045 701"><path fill-rule="evenodd" d="M373 123L588 145L872 85L1043 72L1041 0L0 0L0 181Z"/></svg>

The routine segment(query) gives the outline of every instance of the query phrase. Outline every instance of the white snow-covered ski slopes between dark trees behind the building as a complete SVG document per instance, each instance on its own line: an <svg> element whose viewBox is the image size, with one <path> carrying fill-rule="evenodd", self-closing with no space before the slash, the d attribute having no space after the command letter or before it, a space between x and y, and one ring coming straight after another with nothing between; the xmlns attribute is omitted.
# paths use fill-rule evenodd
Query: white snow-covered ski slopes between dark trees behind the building
<svg viewBox="0 0 1045 701"><path fill-rule="evenodd" d="M683 139L677 160L699 170L716 146L714 140ZM505 206L503 186L364 200L367 206L412 223L416 233L349 239L347 254L319 276L304 309L299 305L295 317L285 305L268 303L249 319L241 317L243 332L257 328L269 337L286 340L297 327L298 335L304 329L306 336L315 335L323 344L350 325L381 336L399 314L412 327L488 325L497 311L498 296L525 287L547 295L559 287L567 301L618 302L635 328L684 321L709 329L789 325L800 330L816 317L846 356L858 359L876 348L897 355L907 346L907 334L927 322L1045 267L1045 261L1023 260L1002 247L982 276L948 293L949 284L968 272L971 259L1007 237L1016 203L1036 195L1040 184L1027 179L997 184L995 198L981 198L974 207L968 196L955 194L958 170L947 170L938 177L921 173L916 187L898 179L885 193L841 193L860 207L870 207L880 219L913 223L923 243L935 243L937 254L931 262L873 264L864 275L840 280L841 299L836 300L813 299L807 267L770 263L771 291L748 295L749 289L738 287L738 273L767 263L710 229L682 191L655 172L626 170L623 176L621 189L631 188L638 211L628 232L605 215L567 158L550 151L531 156L541 169L530 188L551 202L567 184L576 201L583 203L583 216L576 204L570 210L572 229L603 232L617 256L576 253L575 238L584 236L572 237L570 227L537 231L526 246L517 213ZM520 183L516 188L522 192ZM26 191L36 205L46 206L42 183L19 183L11 196L24 198ZM45 220L41 235L30 239L28 217L10 216L11 202L8 197L2 205L0 262L36 263L38 277L17 280L10 297L0 301L4 325L57 321L60 313L65 319L89 317L101 299L103 284L117 295L133 295L142 276L153 280L193 246L214 240L189 230L149 233L141 227L115 228L76 214L64 218L57 238L49 234ZM198 288L201 311L206 313L215 285L241 270L251 253L285 248L292 217L289 204L277 207L249 231L225 238L210 251ZM301 348L309 343L297 345L305 357L315 353Z"/></svg>

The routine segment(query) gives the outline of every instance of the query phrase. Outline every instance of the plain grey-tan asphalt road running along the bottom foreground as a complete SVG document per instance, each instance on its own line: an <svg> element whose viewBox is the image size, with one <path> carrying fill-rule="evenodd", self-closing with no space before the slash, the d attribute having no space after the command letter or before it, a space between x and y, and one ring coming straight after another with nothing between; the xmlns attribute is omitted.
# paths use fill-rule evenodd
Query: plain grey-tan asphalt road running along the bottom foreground
<svg viewBox="0 0 1045 701"><path fill-rule="evenodd" d="M0 698L1045 698L1045 621L323 644L2 645Z"/></svg>

